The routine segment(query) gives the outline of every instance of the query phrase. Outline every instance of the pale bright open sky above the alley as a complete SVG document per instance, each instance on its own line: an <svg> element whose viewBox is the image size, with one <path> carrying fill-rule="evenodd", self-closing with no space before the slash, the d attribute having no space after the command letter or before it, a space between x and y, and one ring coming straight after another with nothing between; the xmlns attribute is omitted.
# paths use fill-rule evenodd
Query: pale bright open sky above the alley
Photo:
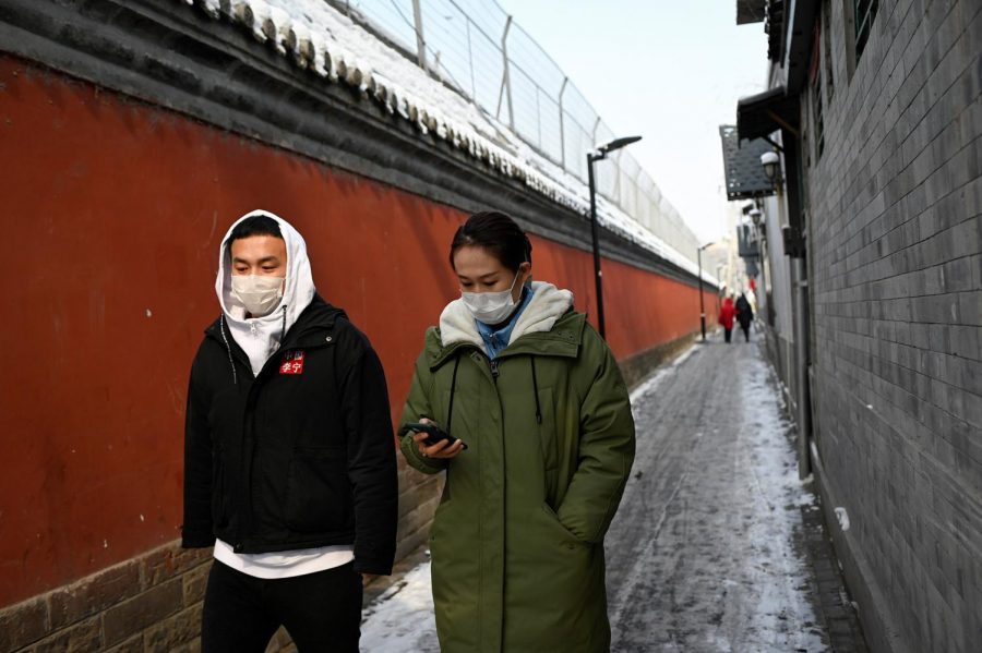
<svg viewBox="0 0 982 653"><path fill-rule="evenodd" d="M719 125L766 89L763 23L736 0L498 0L620 135L699 240L723 234ZM602 164L601 164L602 165Z"/></svg>

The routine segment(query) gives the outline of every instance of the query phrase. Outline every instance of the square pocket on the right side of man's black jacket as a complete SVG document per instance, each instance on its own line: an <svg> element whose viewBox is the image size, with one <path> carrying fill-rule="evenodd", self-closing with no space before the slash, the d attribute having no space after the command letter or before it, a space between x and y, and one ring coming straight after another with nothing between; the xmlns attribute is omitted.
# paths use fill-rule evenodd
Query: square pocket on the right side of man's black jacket
<svg viewBox="0 0 982 653"><path fill-rule="evenodd" d="M352 504L344 449L294 449L284 509L290 529L320 533L350 528Z"/></svg>

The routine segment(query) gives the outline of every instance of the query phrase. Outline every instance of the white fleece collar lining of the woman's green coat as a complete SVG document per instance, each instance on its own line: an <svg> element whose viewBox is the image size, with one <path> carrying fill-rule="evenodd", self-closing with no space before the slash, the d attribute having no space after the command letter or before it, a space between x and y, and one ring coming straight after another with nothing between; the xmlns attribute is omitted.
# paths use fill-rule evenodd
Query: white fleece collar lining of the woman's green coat
<svg viewBox="0 0 982 653"><path fill-rule="evenodd" d="M512 329L510 342L516 341L525 334L549 331L556 321L573 305L573 293L560 290L552 283L532 281L532 298L518 316ZM477 330L474 315L464 304L463 299L448 303L440 315L440 338L444 347L457 342L470 342L483 348L484 342Z"/></svg>

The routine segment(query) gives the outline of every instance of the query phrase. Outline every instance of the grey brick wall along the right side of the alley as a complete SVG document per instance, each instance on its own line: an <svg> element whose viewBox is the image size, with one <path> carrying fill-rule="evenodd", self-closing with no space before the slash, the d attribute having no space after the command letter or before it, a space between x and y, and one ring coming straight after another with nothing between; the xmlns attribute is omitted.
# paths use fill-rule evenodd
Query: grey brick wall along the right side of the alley
<svg viewBox="0 0 982 653"><path fill-rule="evenodd" d="M874 649L982 651L982 2L881 0L854 72L853 2L822 4L821 156L802 96L822 481Z"/></svg>

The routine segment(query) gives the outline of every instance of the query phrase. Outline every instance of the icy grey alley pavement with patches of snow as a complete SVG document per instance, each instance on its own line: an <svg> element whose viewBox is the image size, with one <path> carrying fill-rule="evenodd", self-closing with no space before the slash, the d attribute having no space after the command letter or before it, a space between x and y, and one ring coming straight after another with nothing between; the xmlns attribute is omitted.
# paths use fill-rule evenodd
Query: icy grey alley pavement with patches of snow
<svg viewBox="0 0 982 653"><path fill-rule="evenodd" d="M606 540L612 651L866 652L780 397L735 335L632 392L637 457ZM440 650L424 551L369 593L361 650Z"/></svg>

